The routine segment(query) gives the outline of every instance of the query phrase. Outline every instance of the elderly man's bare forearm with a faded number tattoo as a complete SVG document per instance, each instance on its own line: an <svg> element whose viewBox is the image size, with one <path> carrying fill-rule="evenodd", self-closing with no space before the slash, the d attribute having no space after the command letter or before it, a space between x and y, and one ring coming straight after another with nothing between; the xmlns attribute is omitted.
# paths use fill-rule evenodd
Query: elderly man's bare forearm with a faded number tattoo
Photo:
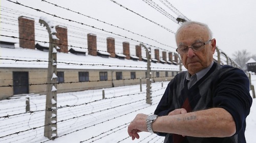
<svg viewBox="0 0 256 143"><path fill-rule="evenodd" d="M226 137L236 132L236 125L225 109L211 108L159 117L153 123L153 130L195 137Z"/></svg>

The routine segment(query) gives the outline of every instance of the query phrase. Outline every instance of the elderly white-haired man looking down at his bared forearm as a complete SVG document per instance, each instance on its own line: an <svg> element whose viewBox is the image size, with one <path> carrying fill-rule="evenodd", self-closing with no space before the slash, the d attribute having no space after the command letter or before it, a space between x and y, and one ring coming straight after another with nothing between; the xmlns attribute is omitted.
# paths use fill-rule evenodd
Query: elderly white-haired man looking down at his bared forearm
<svg viewBox="0 0 256 143"><path fill-rule="evenodd" d="M206 24L184 22L176 33L177 52L187 71L172 79L154 115L138 114L128 127L165 136L164 142L246 142L252 98L246 74L213 61L216 39Z"/></svg>

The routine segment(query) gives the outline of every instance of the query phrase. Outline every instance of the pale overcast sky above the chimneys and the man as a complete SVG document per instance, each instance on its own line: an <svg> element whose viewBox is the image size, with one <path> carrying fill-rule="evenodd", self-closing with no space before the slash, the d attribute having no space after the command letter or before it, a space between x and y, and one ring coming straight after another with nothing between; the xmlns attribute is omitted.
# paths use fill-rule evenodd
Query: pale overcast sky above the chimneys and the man
<svg viewBox="0 0 256 143"><path fill-rule="evenodd" d="M56 4L62 8L56 7L47 2L42 2L41 0L10 1L18 2L25 6L3 0L1 1L2 15L13 15L7 12L9 8L17 10L17 14L20 16L23 15L32 18L35 18L35 16L48 17L55 22L58 21L60 25L62 24L67 26L69 30L74 27L87 29L88 32L97 35L97 40L98 37L114 37L116 38L116 41L130 42L130 47L131 45L137 45L143 42L153 48L156 46L161 49L166 49L166 51L175 51L176 48L173 32L176 32L179 24L177 21L172 18L167 18L162 13L149 6L147 3L152 3L150 0L115 1L127 9L111 0L47 0L48 2ZM164 0L161 1L165 2ZM256 1L168 0L168 3L165 2L165 4L167 4L169 8L163 5L161 1L155 0L154 2L174 18L178 17L176 14L178 12L176 11L176 13L174 13L169 8L177 9L189 20L200 21L208 24L214 34L214 38L217 40L218 47L231 58L235 51L243 49L246 49L251 54L256 54L255 44L253 42L256 38ZM173 7L169 4L172 4ZM39 9L42 12L34 9ZM72 10L73 12L67 9ZM59 16L60 18L53 17L51 14ZM14 15L14 17L18 17L18 15ZM115 25L115 27L92 18L88 18L87 16L108 22ZM71 19L72 21L65 19ZM4 21L4 19L1 21ZM35 22L38 22L38 19L35 18ZM81 23L84 24L82 25ZM8 26L8 24L1 24L1 28L6 28ZM92 26L96 28L92 28ZM124 28L126 31L121 30L116 26ZM167 28L169 31L163 27ZM103 31L98 29L103 29ZM131 31L135 34L127 31ZM114 33L114 35L111 33ZM1 31L1 34L5 34L5 32ZM8 35L11 34L8 33ZM124 37L127 37L128 39L125 39ZM71 43L69 43L69 45L70 44ZM72 44L74 45L77 43Z"/></svg>

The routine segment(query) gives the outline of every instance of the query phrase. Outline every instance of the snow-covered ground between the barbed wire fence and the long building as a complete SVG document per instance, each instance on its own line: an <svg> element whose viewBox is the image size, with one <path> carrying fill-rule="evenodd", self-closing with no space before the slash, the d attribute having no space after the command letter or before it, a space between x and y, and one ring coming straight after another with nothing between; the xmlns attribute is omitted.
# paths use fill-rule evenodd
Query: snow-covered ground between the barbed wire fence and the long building
<svg viewBox="0 0 256 143"><path fill-rule="evenodd" d="M256 85L256 75L251 76ZM154 112L168 82L152 84L152 105L146 104L146 85L58 94L58 138L44 137L45 95L30 95L30 110L26 112L26 97L0 101L0 142L162 142L163 137L140 133L134 141L127 134L127 125L137 113ZM251 92L252 95L252 92ZM247 118L246 139L255 142L256 99ZM6 118L4 118L6 117Z"/></svg>

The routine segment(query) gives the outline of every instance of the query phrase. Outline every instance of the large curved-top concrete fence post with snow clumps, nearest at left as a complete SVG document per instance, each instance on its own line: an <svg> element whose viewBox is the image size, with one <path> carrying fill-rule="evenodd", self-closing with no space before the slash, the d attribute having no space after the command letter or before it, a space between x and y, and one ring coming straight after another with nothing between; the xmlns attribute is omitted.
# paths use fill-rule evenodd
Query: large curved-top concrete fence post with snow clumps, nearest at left
<svg viewBox="0 0 256 143"><path fill-rule="evenodd" d="M47 96L44 135L49 139L57 137L57 40L56 28L46 17L40 17L40 24L46 26L49 34L49 62L47 73Z"/></svg>

